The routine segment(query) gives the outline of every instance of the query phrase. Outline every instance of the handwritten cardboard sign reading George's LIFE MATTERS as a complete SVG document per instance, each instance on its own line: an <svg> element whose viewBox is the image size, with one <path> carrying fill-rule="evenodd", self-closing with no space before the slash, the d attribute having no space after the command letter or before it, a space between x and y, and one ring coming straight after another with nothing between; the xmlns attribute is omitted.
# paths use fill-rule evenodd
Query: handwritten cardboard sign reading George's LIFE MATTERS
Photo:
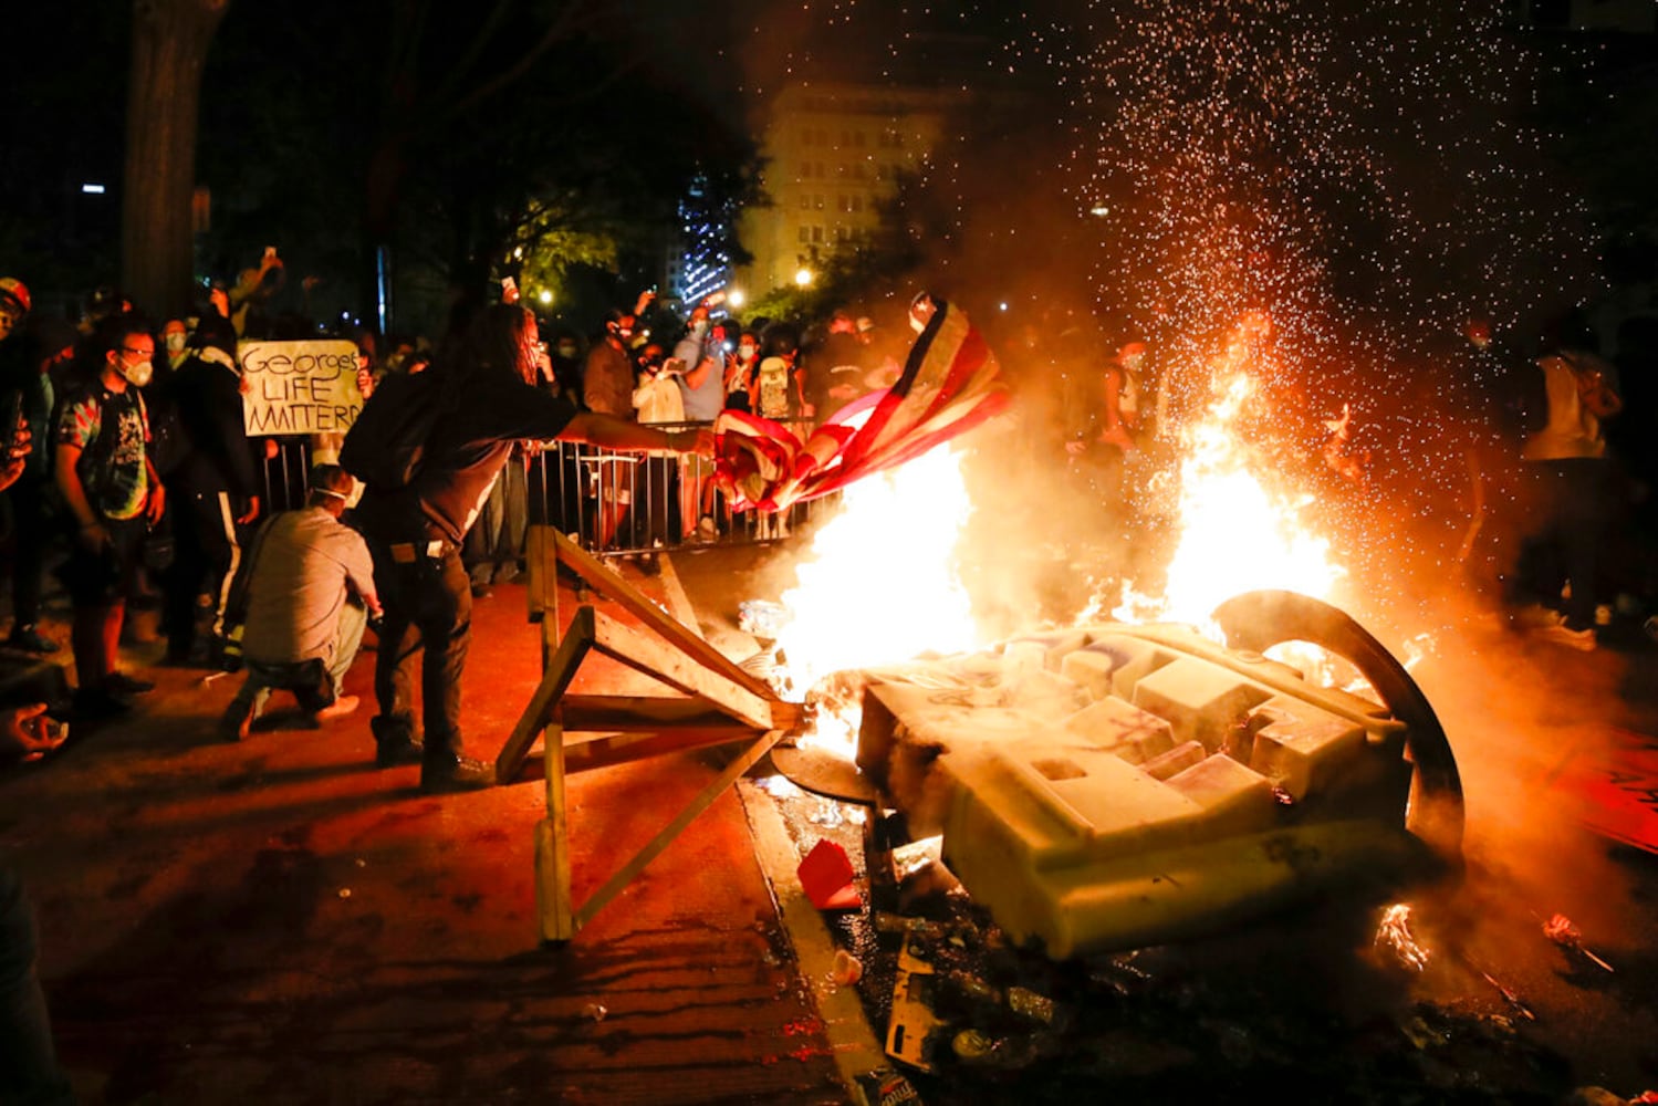
<svg viewBox="0 0 1658 1106"><path fill-rule="evenodd" d="M356 345L342 340L242 342L242 429L255 434L343 433L363 410Z"/></svg>

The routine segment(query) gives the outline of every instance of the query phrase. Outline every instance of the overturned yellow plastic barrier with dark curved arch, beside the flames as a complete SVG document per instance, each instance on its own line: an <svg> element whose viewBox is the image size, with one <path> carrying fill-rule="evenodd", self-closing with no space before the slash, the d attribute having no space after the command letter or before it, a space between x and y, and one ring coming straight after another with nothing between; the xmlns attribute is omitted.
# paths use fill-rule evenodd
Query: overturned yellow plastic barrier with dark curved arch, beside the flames
<svg viewBox="0 0 1658 1106"><path fill-rule="evenodd" d="M1343 884L1456 864L1433 708L1353 618L1290 592L1179 625L1104 623L857 673L859 768L1011 940L1066 958L1166 943ZM1263 657L1346 658L1374 698Z"/></svg>

